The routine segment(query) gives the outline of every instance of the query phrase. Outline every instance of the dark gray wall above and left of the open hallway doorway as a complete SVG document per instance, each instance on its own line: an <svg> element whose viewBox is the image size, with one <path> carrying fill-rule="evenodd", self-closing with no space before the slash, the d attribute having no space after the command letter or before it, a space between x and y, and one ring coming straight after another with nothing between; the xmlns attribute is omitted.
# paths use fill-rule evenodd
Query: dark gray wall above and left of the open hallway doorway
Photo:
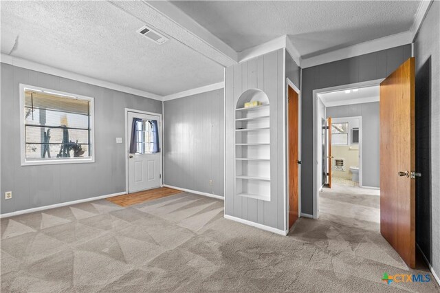
<svg viewBox="0 0 440 293"><path fill-rule="evenodd" d="M314 173L316 173L316 164L313 162L314 89L386 78L410 56L411 45L408 44L303 69L301 89L303 109L301 119L301 160L303 162L301 169L302 213L313 214L313 177Z"/></svg>

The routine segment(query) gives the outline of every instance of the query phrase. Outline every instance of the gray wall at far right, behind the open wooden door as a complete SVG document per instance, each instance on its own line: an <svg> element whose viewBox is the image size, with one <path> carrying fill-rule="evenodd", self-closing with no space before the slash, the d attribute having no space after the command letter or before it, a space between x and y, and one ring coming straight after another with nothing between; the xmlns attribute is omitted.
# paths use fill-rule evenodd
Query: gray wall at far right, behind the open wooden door
<svg viewBox="0 0 440 293"><path fill-rule="evenodd" d="M433 1L414 42L416 66L416 239L440 275L440 3Z"/></svg>

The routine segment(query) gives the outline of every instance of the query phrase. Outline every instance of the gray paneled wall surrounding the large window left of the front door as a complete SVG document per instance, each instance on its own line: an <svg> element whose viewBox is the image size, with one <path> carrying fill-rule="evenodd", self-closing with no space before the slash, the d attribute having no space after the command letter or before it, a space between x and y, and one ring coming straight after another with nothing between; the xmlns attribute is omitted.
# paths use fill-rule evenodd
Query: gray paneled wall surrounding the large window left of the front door
<svg viewBox="0 0 440 293"><path fill-rule="evenodd" d="M96 162L21 166L19 83L95 98ZM125 191L124 108L162 113L162 102L1 63L1 213ZM12 199L5 200L5 191Z"/></svg>

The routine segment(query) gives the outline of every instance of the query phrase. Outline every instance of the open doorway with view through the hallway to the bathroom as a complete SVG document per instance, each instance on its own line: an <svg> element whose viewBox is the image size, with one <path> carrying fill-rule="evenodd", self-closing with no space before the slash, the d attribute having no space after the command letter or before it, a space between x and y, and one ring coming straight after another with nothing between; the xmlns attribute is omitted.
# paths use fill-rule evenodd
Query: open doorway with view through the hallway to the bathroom
<svg viewBox="0 0 440 293"><path fill-rule="evenodd" d="M315 218L338 215L380 228L380 81L314 93ZM369 213L360 213L362 208Z"/></svg>

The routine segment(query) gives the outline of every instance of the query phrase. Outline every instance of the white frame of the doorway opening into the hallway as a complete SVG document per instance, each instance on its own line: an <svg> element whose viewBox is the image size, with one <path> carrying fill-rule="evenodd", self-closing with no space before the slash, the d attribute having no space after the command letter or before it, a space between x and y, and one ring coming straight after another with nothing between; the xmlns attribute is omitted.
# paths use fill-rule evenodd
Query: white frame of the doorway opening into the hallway
<svg viewBox="0 0 440 293"><path fill-rule="evenodd" d="M380 78L380 79L375 79L375 80L369 80L369 81L364 81L361 83L351 83L348 85L338 85L336 87L325 87L323 89L314 89L313 91L313 99L312 99L312 103L313 103L313 210L314 210L314 219L318 219L319 217L319 208L318 208L318 194L319 194L319 190L320 190L320 186L318 186L318 176L320 175L320 170L318 170L318 127L320 127L320 125L316 124L316 119L318 117L318 94L323 94L323 93L327 93L327 92L331 92L331 91L343 91L345 89L353 89L353 88L357 88L357 87L371 87L373 85L380 85L380 83L382 83L382 80L384 80L384 78ZM361 175L361 174L359 174Z"/></svg>

